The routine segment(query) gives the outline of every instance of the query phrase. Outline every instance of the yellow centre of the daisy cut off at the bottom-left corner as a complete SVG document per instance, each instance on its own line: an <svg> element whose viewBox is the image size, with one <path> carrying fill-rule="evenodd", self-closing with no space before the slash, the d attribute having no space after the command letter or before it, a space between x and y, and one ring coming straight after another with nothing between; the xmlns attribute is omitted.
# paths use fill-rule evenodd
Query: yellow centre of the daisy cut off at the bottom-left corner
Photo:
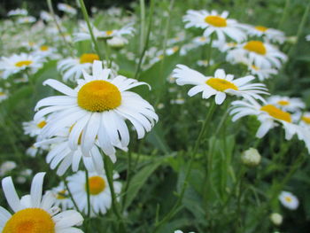
<svg viewBox="0 0 310 233"><path fill-rule="evenodd" d="M55 223L43 209L27 208L13 214L2 233L55 233Z"/></svg>

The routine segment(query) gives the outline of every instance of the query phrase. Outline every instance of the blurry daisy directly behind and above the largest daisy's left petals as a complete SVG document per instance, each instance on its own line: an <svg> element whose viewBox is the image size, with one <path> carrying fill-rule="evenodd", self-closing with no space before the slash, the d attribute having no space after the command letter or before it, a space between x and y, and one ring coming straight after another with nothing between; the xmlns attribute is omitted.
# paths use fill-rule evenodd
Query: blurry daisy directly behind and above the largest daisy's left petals
<svg viewBox="0 0 310 233"><path fill-rule="evenodd" d="M81 78L82 71L89 71L94 60L100 60L94 53L83 53L80 58L66 58L58 61L58 71L65 82Z"/></svg>

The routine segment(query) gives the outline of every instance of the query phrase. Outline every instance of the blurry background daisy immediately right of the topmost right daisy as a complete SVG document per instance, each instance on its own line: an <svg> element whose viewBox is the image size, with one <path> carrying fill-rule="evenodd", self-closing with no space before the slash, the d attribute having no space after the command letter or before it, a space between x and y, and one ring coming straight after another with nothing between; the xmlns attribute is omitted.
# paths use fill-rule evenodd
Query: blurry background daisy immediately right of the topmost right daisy
<svg viewBox="0 0 310 233"><path fill-rule="evenodd" d="M282 31L264 26L249 26L248 34L253 36L264 37L267 43L284 43L286 38Z"/></svg>

